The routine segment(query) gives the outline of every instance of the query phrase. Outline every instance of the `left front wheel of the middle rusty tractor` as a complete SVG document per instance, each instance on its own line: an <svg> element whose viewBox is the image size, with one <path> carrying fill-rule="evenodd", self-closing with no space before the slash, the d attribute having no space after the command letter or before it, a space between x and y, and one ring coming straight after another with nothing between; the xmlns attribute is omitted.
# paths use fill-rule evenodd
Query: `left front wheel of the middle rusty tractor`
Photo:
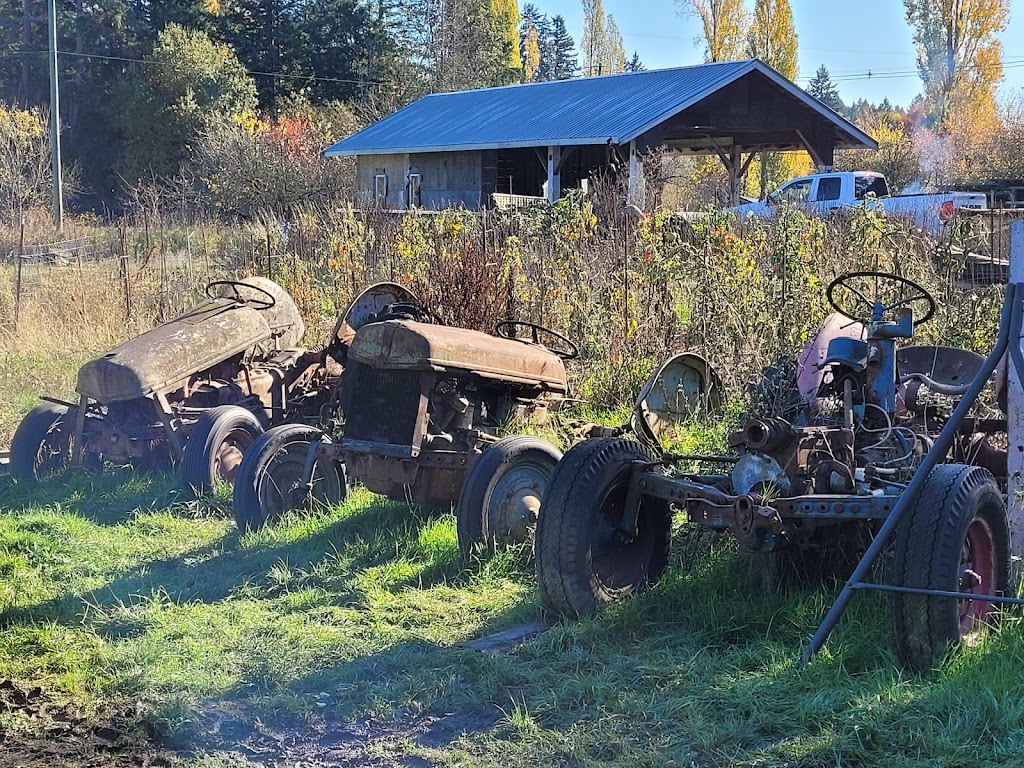
<svg viewBox="0 0 1024 768"><path fill-rule="evenodd" d="M312 493L302 482L309 445L327 440L324 433L302 424L282 424L260 435L246 452L234 478L234 521L243 534L276 522L293 509L333 506L348 494L345 466L317 460Z"/></svg>

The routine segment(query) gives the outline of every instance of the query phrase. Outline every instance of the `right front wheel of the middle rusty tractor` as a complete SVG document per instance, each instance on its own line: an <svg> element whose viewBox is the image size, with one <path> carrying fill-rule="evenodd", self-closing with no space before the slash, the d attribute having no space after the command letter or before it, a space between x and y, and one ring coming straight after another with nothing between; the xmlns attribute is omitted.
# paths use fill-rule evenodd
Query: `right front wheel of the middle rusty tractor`
<svg viewBox="0 0 1024 768"><path fill-rule="evenodd" d="M547 440L517 435L499 440L466 474L456 507L459 549L529 541L541 496L562 453Z"/></svg>

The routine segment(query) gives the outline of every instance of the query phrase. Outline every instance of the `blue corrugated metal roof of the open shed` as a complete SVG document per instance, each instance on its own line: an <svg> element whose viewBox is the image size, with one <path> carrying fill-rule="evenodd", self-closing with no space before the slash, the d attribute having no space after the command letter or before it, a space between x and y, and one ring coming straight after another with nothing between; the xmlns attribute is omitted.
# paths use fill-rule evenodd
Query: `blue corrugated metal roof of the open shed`
<svg viewBox="0 0 1024 768"><path fill-rule="evenodd" d="M758 71L837 124L851 145L873 146L852 123L758 59L526 83L414 101L329 147L327 157L623 144L743 75Z"/></svg>

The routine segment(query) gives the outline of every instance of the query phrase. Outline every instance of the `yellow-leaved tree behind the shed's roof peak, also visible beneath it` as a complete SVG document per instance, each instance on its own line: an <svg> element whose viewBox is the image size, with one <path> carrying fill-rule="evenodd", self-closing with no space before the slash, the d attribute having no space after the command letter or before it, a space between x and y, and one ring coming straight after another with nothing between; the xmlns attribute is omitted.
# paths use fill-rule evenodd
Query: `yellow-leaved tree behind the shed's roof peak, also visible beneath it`
<svg viewBox="0 0 1024 768"><path fill-rule="evenodd" d="M760 58L780 75L797 78L797 30L793 26L790 0L757 0L754 4L754 22L746 36L748 55ZM794 163L804 161L793 158ZM757 168L760 197L774 188L791 171L778 153L761 153Z"/></svg>

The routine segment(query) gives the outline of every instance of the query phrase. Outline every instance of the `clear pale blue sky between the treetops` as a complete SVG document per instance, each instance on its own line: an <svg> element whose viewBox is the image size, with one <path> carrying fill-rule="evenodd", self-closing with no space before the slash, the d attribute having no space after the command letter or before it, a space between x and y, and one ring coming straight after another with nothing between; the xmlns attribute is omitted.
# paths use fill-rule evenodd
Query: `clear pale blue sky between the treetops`
<svg viewBox="0 0 1024 768"><path fill-rule="evenodd" d="M542 13L563 15L579 46L583 36L580 0L532 2ZM902 0L791 3L799 39L799 85L806 86L824 65L847 103L888 98L906 106L921 92L913 36L903 16ZM679 7L676 0L604 0L604 12L615 17L623 33L627 57L636 51L648 70L703 61L703 43L694 42L700 23L680 14ZM1024 0L1011 0L1002 55L1006 80L1000 97L1024 97Z"/></svg>

